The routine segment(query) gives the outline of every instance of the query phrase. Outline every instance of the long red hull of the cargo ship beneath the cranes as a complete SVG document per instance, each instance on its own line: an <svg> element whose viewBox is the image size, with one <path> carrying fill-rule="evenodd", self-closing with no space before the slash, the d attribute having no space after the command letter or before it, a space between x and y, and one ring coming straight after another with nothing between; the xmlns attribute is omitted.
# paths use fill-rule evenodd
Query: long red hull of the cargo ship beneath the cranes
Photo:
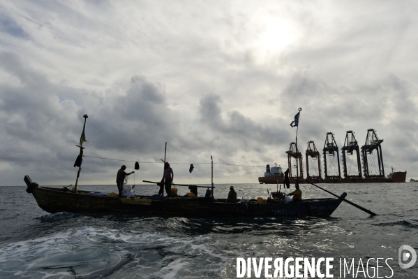
<svg viewBox="0 0 418 279"><path fill-rule="evenodd" d="M283 177L259 177L258 182L261 184L283 184ZM339 178L339 179L323 179L311 178L299 180L299 184L311 183L405 183L406 171L398 171L391 173L391 178ZM290 179L290 184L296 183L296 179Z"/></svg>

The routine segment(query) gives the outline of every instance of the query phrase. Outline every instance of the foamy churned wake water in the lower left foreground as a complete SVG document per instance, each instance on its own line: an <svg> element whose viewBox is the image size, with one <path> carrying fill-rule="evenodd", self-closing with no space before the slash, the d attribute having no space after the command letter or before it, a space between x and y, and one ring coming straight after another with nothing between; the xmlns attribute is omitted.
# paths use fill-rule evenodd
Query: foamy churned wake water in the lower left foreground
<svg viewBox="0 0 418 279"><path fill-rule="evenodd" d="M197 258L211 269L221 269L229 259L227 252L210 243L207 236L170 237L131 229L79 227L0 246L0 278L14 274L97 278L114 273L131 278L139 265L150 276L172 278L186 272L186 267L200 265Z"/></svg>

